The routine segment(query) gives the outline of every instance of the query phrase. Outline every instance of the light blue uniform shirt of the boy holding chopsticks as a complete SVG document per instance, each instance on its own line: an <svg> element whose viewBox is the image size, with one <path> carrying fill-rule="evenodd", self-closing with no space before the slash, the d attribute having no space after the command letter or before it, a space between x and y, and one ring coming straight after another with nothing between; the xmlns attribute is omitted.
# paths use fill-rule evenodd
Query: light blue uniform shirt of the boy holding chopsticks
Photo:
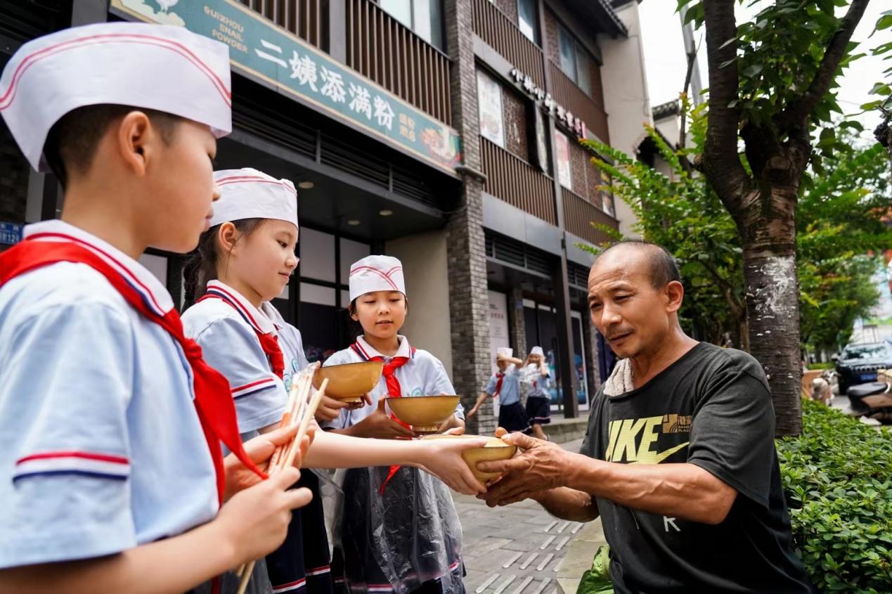
<svg viewBox="0 0 892 594"><path fill-rule="evenodd" d="M173 307L136 260L62 221L24 235L88 247L146 304ZM101 557L217 513L214 466L177 342L86 264L0 288L0 568Z"/></svg>

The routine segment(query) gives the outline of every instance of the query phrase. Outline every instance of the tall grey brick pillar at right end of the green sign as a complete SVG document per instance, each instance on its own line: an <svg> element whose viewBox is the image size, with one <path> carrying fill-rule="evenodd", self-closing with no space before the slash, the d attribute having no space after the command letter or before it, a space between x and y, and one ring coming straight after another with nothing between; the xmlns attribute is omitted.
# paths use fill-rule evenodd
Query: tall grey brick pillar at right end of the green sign
<svg viewBox="0 0 892 594"><path fill-rule="evenodd" d="M468 141L480 135L472 6L470 0L446 0L443 8L447 53L453 60L450 70L452 122L464 139L465 165L479 170L480 144ZM446 231L453 384L468 409L490 377L490 320L483 240L483 182L474 175L466 175L462 194L461 207L450 215ZM489 400L468 423L468 433L491 434L495 425Z"/></svg>

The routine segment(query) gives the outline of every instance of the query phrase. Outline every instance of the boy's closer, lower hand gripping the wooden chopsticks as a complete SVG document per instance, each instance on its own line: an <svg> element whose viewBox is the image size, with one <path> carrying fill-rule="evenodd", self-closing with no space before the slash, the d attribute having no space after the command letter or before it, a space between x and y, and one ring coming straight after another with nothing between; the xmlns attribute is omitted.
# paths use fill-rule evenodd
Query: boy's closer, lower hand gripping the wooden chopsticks
<svg viewBox="0 0 892 594"><path fill-rule="evenodd" d="M300 477L297 468L285 468L235 493L220 509L215 522L235 547L235 558L240 563L264 557L285 541L291 510L313 499L309 489L288 489Z"/></svg>

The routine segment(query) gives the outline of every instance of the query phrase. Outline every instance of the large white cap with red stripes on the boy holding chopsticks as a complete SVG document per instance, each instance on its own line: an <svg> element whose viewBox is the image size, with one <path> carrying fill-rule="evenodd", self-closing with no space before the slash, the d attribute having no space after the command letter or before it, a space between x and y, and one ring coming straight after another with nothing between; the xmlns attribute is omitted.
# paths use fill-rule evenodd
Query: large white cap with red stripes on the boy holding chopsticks
<svg viewBox="0 0 892 594"><path fill-rule="evenodd" d="M50 128L99 103L165 111L232 131L229 48L181 27L108 22L22 45L0 77L0 112L34 169Z"/></svg>

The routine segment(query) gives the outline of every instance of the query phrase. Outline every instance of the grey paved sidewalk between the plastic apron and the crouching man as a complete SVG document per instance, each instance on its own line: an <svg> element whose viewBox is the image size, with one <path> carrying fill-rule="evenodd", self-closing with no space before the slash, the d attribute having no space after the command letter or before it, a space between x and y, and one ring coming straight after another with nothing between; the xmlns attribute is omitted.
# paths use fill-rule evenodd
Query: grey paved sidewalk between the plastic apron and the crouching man
<svg viewBox="0 0 892 594"><path fill-rule="evenodd" d="M578 451L581 444L575 440L562 447ZM454 499L464 532L469 593L573 594L603 539L599 521L558 520L530 500L491 509L473 497Z"/></svg>

